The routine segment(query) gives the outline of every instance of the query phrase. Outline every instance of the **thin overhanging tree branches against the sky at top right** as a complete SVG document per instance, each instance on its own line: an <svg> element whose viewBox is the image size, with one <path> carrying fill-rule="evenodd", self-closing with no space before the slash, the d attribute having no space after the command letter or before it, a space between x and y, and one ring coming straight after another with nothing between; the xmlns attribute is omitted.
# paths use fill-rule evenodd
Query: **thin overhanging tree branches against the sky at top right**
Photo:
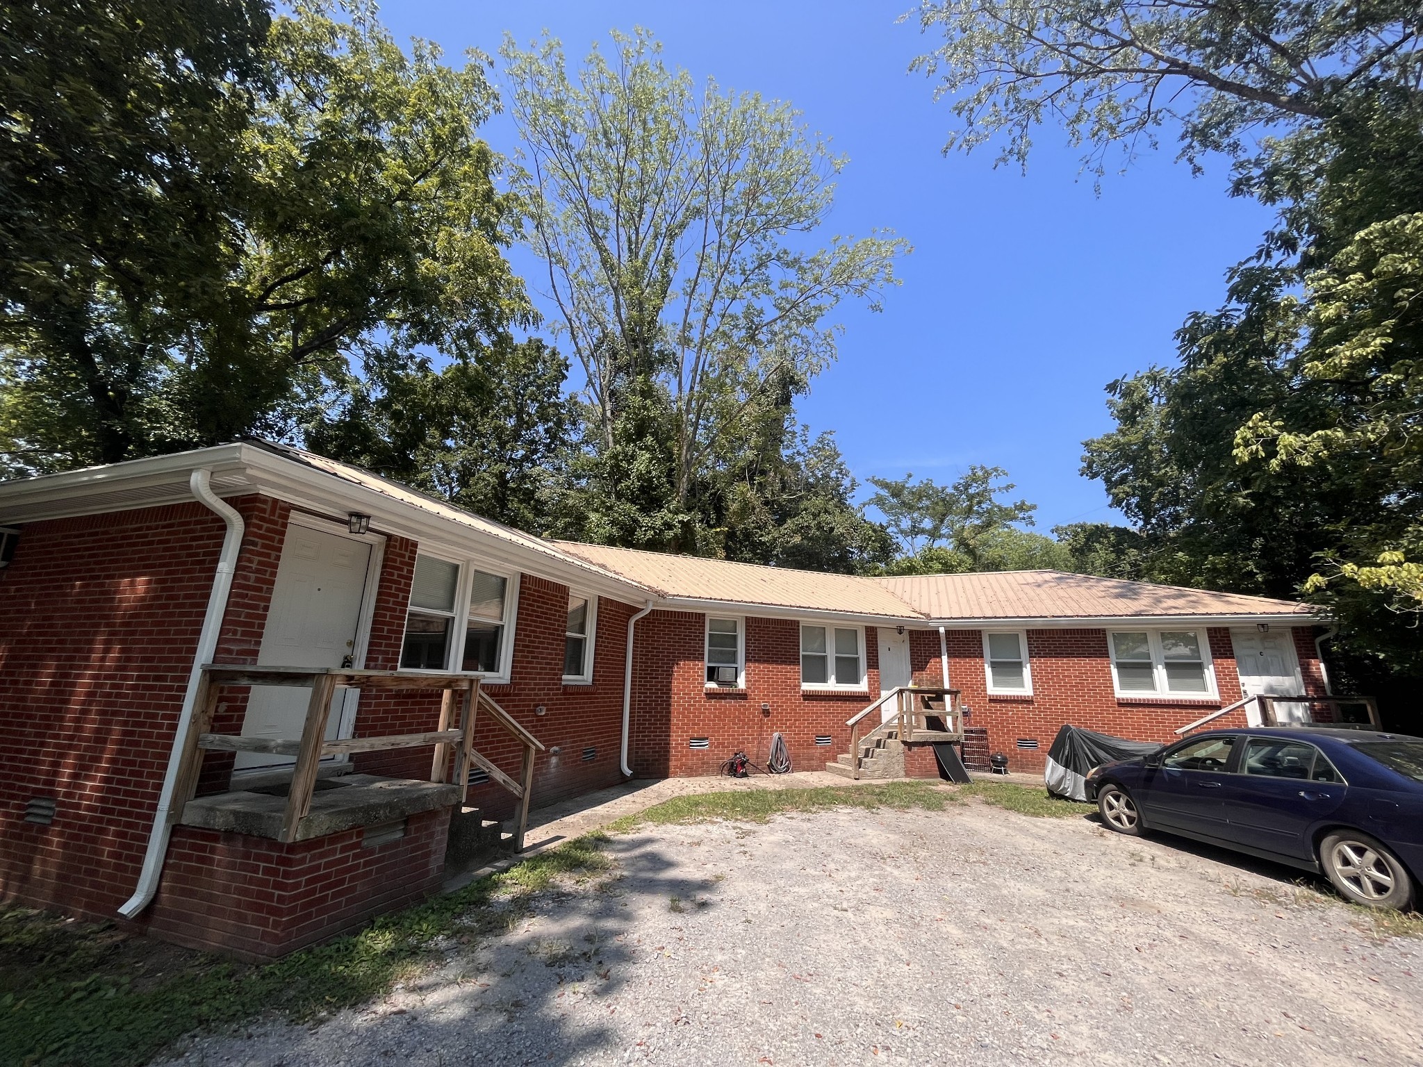
<svg viewBox="0 0 1423 1067"><path fill-rule="evenodd" d="M1026 164L1032 131L1060 124L1101 174L1180 128L1181 154L1239 155L1247 137L1333 114L1342 94L1416 85L1417 6L1315 0L921 0L919 24L943 44L915 68L952 97L949 147L1002 141Z"/></svg>

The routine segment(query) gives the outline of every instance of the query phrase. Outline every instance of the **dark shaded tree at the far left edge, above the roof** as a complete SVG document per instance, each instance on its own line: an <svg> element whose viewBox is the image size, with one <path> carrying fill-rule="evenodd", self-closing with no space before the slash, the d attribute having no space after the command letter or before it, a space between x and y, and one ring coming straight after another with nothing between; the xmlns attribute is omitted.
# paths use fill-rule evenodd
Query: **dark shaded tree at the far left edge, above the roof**
<svg viewBox="0 0 1423 1067"><path fill-rule="evenodd" d="M223 286L269 23L258 0L0 9L0 472L152 447Z"/></svg>

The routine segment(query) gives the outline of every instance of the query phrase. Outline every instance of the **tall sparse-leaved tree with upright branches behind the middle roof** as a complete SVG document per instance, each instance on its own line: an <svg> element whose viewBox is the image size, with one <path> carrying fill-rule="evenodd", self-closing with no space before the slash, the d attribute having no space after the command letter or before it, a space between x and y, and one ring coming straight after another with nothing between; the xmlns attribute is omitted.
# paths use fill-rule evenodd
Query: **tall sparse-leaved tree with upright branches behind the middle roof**
<svg viewBox="0 0 1423 1067"><path fill-rule="evenodd" d="M595 48L571 75L556 40L505 41L517 188L585 376L589 447L620 471L599 484L630 494L606 502L602 536L700 551L693 495L717 448L834 359L835 306L878 309L905 246L815 248L844 165L825 139L787 104L669 73L643 30L613 44L612 61Z"/></svg>

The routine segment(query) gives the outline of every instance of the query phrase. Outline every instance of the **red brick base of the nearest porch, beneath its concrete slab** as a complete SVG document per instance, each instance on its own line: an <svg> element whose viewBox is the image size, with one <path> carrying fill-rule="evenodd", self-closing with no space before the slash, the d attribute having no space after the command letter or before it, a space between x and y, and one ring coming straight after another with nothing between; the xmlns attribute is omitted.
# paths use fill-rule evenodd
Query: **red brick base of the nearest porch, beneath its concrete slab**
<svg viewBox="0 0 1423 1067"><path fill-rule="evenodd" d="M363 846L363 829L279 845L178 827L142 922L192 947L280 956L435 889L448 827L448 809L420 812L407 819L406 837L376 848Z"/></svg>

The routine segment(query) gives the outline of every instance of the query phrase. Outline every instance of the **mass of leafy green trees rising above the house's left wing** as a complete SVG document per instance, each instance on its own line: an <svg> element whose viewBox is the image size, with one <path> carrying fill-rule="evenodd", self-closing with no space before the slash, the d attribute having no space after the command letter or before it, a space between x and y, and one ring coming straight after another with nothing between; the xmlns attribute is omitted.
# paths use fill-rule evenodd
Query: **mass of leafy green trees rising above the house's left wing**
<svg viewBox="0 0 1423 1067"><path fill-rule="evenodd" d="M342 393L353 359L468 356L527 320L501 255L512 203L474 134L495 105L478 55L407 55L364 3L297 3L270 28L255 6L171 9L4 27L6 47L87 85L21 97L7 127L7 171L65 162L28 166L6 232L6 260L31 265L0 275L13 469L282 435ZM108 151L111 168L67 165Z"/></svg>

